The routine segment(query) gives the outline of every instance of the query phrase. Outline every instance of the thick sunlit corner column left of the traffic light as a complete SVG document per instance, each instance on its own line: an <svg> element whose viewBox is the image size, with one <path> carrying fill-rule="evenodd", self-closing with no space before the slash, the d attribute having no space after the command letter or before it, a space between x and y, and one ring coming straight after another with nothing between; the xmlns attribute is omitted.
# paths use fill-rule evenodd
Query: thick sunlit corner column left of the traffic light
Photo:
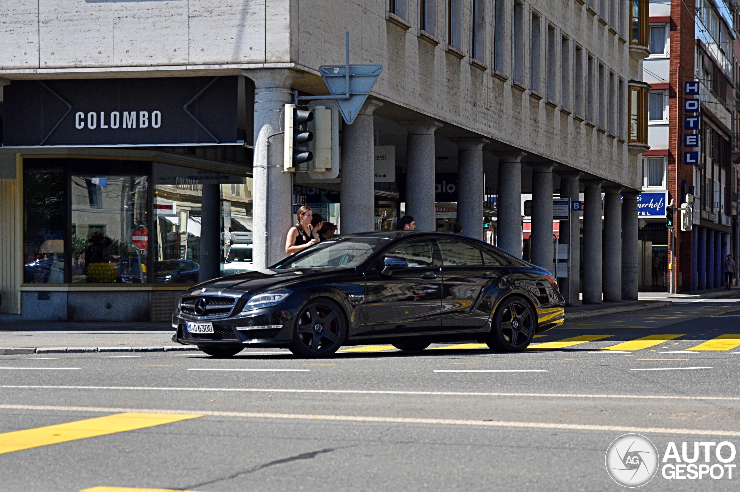
<svg viewBox="0 0 740 492"><path fill-rule="evenodd" d="M291 68L242 70L255 82L255 130L252 198L252 259L255 270L285 258L285 240L293 217L290 173L283 173L283 136L280 116L292 102L290 86L303 76Z"/></svg>

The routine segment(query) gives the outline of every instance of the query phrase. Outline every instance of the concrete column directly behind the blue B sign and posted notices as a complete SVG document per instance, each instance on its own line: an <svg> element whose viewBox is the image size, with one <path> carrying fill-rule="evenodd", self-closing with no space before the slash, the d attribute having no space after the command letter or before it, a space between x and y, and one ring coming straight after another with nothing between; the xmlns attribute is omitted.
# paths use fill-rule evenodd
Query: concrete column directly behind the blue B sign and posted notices
<svg viewBox="0 0 740 492"><path fill-rule="evenodd" d="M583 176L581 171L558 173L560 176L560 196L569 196L571 202L579 200ZM560 293L565 297L565 305L578 306L580 299L581 280L581 225L578 211L571 210L568 222L560 221L560 244L568 245L568 277L559 279Z"/></svg>

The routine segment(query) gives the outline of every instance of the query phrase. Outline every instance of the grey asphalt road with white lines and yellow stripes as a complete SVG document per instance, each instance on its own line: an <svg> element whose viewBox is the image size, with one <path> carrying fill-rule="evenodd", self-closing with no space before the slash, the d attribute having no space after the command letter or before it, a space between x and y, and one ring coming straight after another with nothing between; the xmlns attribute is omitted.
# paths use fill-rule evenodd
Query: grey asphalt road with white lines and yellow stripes
<svg viewBox="0 0 740 492"><path fill-rule="evenodd" d="M577 320L518 354L0 356L0 490L622 490L605 469L622 434L661 459L740 448L739 322L728 299ZM722 470L642 490L738 490Z"/></svg>

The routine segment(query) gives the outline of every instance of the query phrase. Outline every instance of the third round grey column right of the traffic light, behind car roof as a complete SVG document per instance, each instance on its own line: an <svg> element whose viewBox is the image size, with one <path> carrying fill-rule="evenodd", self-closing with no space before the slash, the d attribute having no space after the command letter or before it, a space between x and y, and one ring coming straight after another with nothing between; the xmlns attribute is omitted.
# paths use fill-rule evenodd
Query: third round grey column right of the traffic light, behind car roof
<svg viewBox="0 0 740 492"><path fill-rule="evenodd" d="M483 145L489 139L451 139L457 144L457 222L462 235L485 239L483 231Z"/></svg>

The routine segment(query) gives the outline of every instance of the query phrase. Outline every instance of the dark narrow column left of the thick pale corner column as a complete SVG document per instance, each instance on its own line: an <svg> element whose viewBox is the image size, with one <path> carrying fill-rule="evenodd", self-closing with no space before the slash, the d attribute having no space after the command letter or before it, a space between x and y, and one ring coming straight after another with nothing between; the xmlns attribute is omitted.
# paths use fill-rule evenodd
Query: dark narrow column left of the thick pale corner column
<svg viewBox="0 0 740 492"><path fill-rule="evenodd" d="M203 185L201 196L201 260L198 282L218 277L221 262L221 185Z"/></svg>

